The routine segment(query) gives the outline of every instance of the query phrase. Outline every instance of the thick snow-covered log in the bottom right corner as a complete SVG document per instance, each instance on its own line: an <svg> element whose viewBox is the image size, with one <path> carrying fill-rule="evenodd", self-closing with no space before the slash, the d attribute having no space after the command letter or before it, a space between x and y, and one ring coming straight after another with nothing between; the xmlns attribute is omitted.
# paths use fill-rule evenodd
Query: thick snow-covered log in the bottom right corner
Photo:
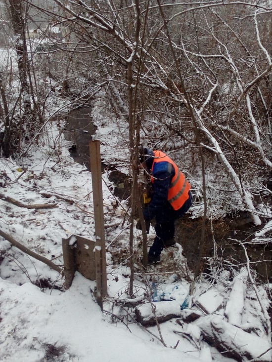
<svg viewBox="0 0 272 362"><path fill-rule="evenodd" d="M195 323L201 329L203 339L226 357L239 362L272 361L268 340L245 332L214 315L201 317Z"/></svg>

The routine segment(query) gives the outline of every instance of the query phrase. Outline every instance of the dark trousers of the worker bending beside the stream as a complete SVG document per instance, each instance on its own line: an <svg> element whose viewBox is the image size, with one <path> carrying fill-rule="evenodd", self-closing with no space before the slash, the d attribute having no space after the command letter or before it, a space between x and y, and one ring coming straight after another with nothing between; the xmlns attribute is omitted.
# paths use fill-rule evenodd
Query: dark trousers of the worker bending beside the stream
<svg viewBox="0 0 272 362"><path fill-rule="evenodd" d="M165 207L160 214L156 216L155 232L156 237L153 245L149 249L149 255L158 256L164 248L164 242L174 238L175 235L175 220L187 212L193 202L192 194L189 191L189 199L184 202L179 210L174 210L167 201Z"/></svg>

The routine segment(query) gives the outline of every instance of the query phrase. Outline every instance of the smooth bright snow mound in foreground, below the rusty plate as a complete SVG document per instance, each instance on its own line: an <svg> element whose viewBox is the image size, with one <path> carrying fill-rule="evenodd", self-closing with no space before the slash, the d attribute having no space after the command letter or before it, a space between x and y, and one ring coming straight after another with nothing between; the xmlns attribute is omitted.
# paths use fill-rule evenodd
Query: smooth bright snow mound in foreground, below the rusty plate
<svg viewBox="0 0 272 362"><path fill-rule="evenodd" d="M31 283L15 286L1 280L1 325L5 324L1 327L1 361L41 361L46 345L64 348L58 361L136 362L152 354L157 361L180 360L183 354L178 351L150 344L143 336L106 322L91 299L91 284L77 274L68 291L46 295Z"/></svg>

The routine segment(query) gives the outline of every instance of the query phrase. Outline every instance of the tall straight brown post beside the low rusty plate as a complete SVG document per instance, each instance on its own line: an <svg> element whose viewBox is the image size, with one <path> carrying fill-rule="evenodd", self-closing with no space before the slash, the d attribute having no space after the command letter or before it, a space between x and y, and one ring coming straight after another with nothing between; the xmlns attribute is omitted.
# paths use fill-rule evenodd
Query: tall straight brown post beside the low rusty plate
<svg viewBox="0 0 272 362"><path fill-rule="evenodd" d="M102 298L107 292L107 271L106 271L106 248L105 248L105 227L104 227L104 209L102 194L102 177L101 177L101 156L100 142L90 141L90 163L91 163L91 182L94 209L95 225L95 261L96 265L96 289L97 302L102 309ZM101 287L101 290L99 288ZM100 297L101 296L101 297Z"/></svg>

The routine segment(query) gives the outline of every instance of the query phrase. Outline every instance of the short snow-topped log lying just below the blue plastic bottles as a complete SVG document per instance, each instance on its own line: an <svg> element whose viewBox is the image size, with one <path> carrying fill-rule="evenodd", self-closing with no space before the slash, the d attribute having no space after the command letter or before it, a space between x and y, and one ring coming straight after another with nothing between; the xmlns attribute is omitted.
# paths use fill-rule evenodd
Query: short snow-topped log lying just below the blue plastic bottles
<svg viewBox="0 0 272 362"><path fill-rule="evenodd" d="M181 306L176 301L145 303L135 309L136 321L144 326L156 325L181 317Z"/></svg>

